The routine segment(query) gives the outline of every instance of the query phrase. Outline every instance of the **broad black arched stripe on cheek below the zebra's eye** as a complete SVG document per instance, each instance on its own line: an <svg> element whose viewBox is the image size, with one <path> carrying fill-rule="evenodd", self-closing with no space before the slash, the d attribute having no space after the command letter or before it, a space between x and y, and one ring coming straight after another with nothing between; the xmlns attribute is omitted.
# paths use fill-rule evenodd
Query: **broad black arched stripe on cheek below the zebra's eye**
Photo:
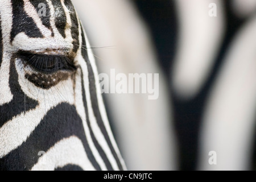
<svg viewBox="0 0 256 182"><path fill-rule="evenodd" d="M0 159L0 170L31 169L38 162L39 151L47 152L59 140L73 135L81 139L88 159L96 169L100 169L89 148L75 106L62 103L47 112L26 142Z"/></svg>

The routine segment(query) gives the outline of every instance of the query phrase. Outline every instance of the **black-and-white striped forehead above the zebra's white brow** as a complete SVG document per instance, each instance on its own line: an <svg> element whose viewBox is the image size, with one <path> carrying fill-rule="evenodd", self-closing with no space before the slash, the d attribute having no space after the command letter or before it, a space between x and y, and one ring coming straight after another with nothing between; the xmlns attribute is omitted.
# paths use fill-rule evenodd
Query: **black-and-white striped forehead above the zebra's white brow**
<svg viewBox="0 0 256 182"><path fill-rule="evenodd" d="M28 38L67 38L73 43L73 51L77 51L79 20L71 1L2 0L0 5L11 6L9 13L13 15L12 19L5 18L5 15L2 17L12 24L11 43L16 35L23 32Z"/></svg>

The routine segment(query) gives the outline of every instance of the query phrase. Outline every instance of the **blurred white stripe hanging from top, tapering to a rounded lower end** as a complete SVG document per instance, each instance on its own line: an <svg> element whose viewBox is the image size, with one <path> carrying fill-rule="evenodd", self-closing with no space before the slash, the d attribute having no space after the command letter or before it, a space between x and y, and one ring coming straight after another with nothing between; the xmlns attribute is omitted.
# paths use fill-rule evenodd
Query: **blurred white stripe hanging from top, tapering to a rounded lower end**
<svg viewBox="0 0 256 182"><path fill-rule="evenodd" d="M224 35L222 1L177 0L176 3L180 32L172 81L178 96L191 98L207 80ZM209 16L210 3L216 3L217 17Z"/></svg>

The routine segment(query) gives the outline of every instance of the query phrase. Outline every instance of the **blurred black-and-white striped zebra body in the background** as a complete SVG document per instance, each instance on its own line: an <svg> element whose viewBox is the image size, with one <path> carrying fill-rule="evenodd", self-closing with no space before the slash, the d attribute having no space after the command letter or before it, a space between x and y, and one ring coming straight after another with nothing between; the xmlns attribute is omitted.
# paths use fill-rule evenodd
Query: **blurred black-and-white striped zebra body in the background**
<svg viewBox="0 0 256 182"><path fill-rule="evenodd" d="M129 169L253 168L254 1L83 2L101 72L159 73L157 101L105 94Z"/></svg>

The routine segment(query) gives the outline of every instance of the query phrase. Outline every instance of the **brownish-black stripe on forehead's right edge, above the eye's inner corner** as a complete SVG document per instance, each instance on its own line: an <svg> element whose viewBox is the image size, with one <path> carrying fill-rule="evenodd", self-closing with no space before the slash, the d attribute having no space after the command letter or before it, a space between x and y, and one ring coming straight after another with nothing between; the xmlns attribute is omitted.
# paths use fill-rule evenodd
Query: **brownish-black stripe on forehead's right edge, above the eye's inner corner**
<svg viewBox="0 0 256 182"><path fill-rule="evenodd" d="M77 52L77 49L79 49L79 22L77 20L76 16L76 10L72 5L72 2L70 0L64 1L65 6L69 10L70 18L71 18L71 35L73 38L73 52Z"/></svg>

